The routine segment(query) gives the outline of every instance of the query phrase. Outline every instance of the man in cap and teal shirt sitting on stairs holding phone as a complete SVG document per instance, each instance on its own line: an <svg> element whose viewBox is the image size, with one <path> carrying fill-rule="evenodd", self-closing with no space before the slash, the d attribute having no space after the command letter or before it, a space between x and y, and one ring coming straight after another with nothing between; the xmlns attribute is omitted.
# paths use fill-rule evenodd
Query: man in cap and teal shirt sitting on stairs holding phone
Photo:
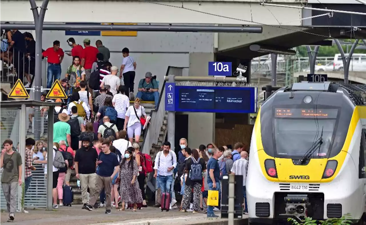
<svg viewBox="0 0 366 225"><path fill-rule="evenodd" d="M156 108L159 103L159 85L156 79L153 79L152 76L152 73L147 72L145 74L145 79L140 80L136 98L143 101L155 101Z"/></svg>

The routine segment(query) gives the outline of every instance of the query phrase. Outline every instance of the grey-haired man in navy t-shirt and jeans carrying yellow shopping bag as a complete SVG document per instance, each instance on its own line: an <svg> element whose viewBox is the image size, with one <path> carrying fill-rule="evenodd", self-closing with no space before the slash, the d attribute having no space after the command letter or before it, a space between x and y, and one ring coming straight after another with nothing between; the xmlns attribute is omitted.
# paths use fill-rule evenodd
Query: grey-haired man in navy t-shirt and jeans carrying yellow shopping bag
<svg viewBox="0 0 366 225"><path fill-rule="evenodd" d="M219 149L212 149L212 157L207 162L207 184L209 190L219 191L219 205L221 200L221 187L220 187L220 165L217 159L220 158L221 152ZM213 213L213 206L207 206L207 217L219 217Z"/></svg>

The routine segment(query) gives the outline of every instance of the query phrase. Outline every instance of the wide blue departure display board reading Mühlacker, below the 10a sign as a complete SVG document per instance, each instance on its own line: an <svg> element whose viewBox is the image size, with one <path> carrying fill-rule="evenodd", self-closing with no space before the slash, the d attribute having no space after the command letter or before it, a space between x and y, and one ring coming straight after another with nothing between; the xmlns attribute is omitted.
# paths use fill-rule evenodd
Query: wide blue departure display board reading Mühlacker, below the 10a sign
<svg viewBox="0 0 366 225"><path fill-rule="evenodd" d="M175 86L166 83L165 88L167 111L255 113L257 110L257 88L254 87Z"/></svg>

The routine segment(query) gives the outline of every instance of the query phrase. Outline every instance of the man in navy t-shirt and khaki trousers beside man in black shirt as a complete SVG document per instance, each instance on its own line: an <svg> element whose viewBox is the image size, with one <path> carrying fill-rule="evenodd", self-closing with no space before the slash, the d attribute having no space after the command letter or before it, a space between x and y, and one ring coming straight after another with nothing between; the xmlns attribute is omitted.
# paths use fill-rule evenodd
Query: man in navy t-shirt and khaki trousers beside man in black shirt
<svg viewBox="0 0 366 225"><path fill-rule="evenodd" d="M119 172L119 161L117 155L109 150L109 141L104 141L102 152L97 160L96 191L91 195L87 210L92 211L100 191L105 190L105 213L111 213L111 186L113 177Z"/></svg>

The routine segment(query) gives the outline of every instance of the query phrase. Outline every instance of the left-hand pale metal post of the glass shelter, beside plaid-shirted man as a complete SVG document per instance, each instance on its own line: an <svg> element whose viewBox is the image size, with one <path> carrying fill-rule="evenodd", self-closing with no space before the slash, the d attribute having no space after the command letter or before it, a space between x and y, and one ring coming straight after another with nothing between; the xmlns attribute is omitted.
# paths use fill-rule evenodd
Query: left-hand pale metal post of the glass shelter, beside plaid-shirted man
<svg viewBox="0 0 366 225"><path fill-rule="evenodd" d="M19 186L19 191L18 191L18 210L20 212L24 212L24 206L22 205L22 198L24 196L24 191L23 191L23 185L25 182L25 139L26 139L26 122L27 122L27 115L26 115L27 109L26 109L26 105L22 104L22 107L20 108L20 117L19 117L19 123L20 123L20 127L19 127L19 153L22 156L22 186Z"/></svg>

